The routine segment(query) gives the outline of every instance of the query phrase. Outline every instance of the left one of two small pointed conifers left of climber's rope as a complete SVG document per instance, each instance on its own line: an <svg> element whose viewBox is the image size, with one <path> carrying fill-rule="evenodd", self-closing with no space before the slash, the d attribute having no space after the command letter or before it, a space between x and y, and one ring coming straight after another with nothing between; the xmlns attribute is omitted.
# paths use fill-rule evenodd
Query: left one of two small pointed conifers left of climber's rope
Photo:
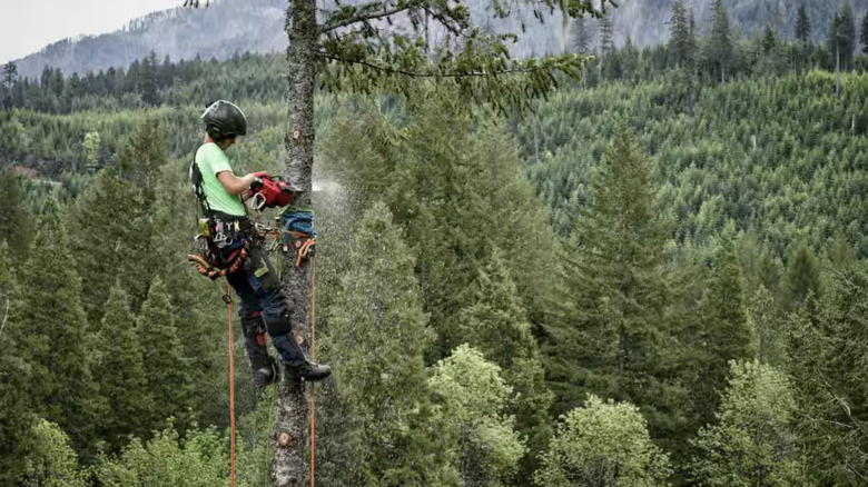
<svg viewBox="0 0 868 487"><path fill-rule="evenodd" d="M150 433L142 427L156 407L145 380L136 318L127 307L126 292L118 285L109 291L93 348L97 355L93 379L108 406L97 435L108 444L109 451L117 453L129 436L144 437Z"/></svg>

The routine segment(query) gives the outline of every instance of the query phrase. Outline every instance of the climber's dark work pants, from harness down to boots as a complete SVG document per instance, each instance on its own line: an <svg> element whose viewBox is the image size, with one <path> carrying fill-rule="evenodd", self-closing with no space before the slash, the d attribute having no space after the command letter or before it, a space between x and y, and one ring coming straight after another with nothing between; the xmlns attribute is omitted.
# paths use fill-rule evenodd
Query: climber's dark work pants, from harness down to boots
<svg viewBox="0 0 868 487"><path fill-rule="evenodd" d="M262 246L253 245L241 268L228 275L227 279L240 300L238 316L247 359L254 370L268 365L264 331L272 337L272 345L286 366L304 365L304 351L292 332L289 300L283 292L268 252Z"/></svg>

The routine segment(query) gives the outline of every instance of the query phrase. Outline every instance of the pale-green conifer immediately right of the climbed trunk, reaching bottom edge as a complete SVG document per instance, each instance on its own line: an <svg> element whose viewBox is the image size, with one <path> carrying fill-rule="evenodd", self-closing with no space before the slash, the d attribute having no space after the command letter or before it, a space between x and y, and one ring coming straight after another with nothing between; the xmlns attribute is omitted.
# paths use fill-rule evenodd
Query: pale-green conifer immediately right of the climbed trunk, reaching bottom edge
<svg viewBox="0 0 868 487"><path fill-rule="evenodd" d="M364 477L376 486L452 485L448 447L428 428L423 352L432 342L413 275L414 257L383 203L356 231L343 292L331 308L339 391L362 418ZM431 456L431 451L443 455ZM451 478L453 480L451 480Z"/></svg>

